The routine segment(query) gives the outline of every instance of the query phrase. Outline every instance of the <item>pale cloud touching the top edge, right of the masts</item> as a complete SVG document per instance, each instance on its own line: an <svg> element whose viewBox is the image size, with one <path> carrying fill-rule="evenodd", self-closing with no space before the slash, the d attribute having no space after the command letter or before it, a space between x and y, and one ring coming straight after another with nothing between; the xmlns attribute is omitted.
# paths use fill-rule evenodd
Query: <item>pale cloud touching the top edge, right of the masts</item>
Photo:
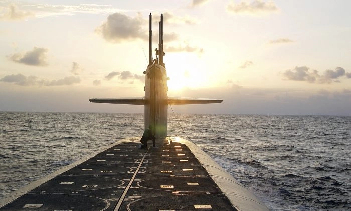
<svg viewBox="0 0 351 211"><path fill-rule="evenodd" d="M273 13L279 9L272 1L264 2L262 0L253 0L251 2L241 1L236 4L231 1L227 6L227 11L231 13L247 13L247 14L262 14Z"/></svg>

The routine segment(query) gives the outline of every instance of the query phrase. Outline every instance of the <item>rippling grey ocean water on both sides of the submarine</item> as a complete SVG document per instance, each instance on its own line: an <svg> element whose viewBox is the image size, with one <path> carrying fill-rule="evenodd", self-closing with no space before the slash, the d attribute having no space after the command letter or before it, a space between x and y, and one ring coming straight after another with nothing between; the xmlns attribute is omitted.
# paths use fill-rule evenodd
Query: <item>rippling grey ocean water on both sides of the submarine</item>
<svg viewBox="0 0 351 211"><path fill-rule="evenodd" d="M143 114L0 112L0 198L105 145ZM351 116L168 115L271 210L351 210Z"/></svg>

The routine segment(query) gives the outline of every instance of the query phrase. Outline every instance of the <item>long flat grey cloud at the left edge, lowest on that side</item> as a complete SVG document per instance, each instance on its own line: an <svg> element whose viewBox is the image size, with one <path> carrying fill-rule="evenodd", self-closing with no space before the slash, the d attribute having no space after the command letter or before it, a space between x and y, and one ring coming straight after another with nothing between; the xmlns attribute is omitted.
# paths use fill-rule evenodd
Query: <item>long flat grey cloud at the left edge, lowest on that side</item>
<svg viewBox="0 0 351 211"><path fill-rule="evenodd" d="M69 76L59 80L46 80L38 79L36 76L25 76L22 74L17 75L7 75L0 79L2 82L14 83L20 86L63 86L63 85L73 85L75 83L80 83L79 77Z"/></svg>

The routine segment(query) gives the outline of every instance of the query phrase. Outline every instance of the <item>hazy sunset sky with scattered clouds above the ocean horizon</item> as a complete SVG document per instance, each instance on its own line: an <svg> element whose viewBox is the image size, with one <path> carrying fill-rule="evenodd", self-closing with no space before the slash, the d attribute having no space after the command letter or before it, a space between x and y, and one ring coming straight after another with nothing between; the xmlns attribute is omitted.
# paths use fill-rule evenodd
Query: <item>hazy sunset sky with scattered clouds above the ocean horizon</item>
<svg viewBox="0 0 351 211"><path fill-rule="evenodd" d="M163 13L175 113L351 115L351 1L0 1L0 111L143 112ZM153 51L153 58L154 58ZM169 108L168 112L172 110Z"/></svg>

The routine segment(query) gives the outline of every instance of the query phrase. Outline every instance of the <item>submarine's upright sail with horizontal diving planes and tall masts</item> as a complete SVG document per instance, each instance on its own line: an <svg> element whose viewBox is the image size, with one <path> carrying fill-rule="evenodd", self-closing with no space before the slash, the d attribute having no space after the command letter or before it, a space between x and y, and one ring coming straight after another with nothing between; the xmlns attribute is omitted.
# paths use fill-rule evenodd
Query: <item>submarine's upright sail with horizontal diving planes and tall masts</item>
<svg viewBox="0 0 351 211"><path fill-rule="evenodd" d="M149 64L145 74L145 86L143 97L131 98L105 98L89 99L90 102L112 103L112 104L130 104L144 105L144 127L152 126L153 134L156 138L167 137L167 116L168 105L186 105L186 104L208 104L221 103L221 99L203 99L203 98L186 98L168 96L167 71L163 63L163 14L159 21L159 43L158 49L155 49L156 58L152 59L152 16L149 16Z"/></svg>

